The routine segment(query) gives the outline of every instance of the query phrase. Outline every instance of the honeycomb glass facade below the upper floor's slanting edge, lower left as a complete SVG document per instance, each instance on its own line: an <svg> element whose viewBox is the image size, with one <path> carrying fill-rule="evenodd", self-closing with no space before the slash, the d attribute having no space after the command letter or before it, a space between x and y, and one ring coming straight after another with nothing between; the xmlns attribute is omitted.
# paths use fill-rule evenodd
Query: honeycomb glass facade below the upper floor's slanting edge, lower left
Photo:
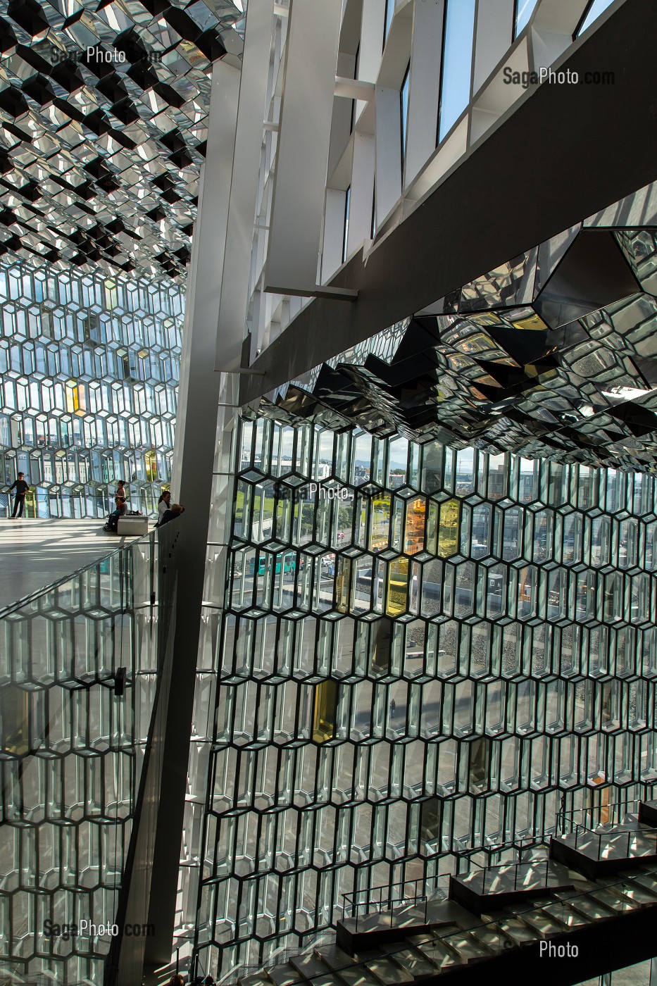
<svg viewBox="0 0 657 986"><path fill-rule="evenodd" d="M0 614L3 982L103 981L168 640L175 561L160 575L158 559L176 536Z"/></svg>

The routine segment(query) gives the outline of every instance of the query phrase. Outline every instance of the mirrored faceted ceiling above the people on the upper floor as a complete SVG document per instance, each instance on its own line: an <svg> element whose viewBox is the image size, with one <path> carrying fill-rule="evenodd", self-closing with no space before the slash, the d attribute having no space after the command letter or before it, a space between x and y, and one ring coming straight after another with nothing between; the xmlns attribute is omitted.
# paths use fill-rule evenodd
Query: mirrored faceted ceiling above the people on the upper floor
<svg viewBox="0 0 657 986"><path fill-rule="evenodd" d="M1 0L0 254L182 278L243 27L230 0Z"/></svg>

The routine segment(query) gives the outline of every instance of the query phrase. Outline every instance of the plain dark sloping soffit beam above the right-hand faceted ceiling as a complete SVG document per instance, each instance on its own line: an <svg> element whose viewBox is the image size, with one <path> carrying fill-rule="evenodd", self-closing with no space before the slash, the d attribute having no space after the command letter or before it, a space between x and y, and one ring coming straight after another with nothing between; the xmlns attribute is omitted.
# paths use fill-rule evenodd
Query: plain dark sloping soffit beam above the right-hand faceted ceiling
<svg viewBox="0 0 657 986"><path fill-rule="evenodd" d="M241 403L294 380L545 242L657 177L657 99L647 76L657 4L625 0L563 63L614 72L606 86L542 85L517 106L363 263L331 281L255 360Z"/></svg>

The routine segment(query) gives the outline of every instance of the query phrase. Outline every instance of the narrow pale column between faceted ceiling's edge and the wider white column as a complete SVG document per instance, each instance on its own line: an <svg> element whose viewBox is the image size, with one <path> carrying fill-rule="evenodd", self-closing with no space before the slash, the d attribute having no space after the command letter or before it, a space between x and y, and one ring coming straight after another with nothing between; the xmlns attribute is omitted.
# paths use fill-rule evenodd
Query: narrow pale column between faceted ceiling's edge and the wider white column
<svg viewBox="0 0 657 986"><path fill-rule="evenodd" d="M273 0L249 0L217 327L217 370L239 370L249 297Z"/></svg>

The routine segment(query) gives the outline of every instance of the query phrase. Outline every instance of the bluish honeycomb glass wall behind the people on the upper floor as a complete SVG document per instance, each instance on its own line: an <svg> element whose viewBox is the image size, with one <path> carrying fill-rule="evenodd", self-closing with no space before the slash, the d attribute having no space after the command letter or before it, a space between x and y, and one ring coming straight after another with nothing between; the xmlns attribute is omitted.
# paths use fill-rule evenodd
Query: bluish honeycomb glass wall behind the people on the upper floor
<svg viewBox="0 0 657 986"><path fill-rule="evenodd" d="M117 479L132 509L155 509L171 477L183 306L167 279L2 261L0 489L25 472L28 516L103 516Z"/></svg>

